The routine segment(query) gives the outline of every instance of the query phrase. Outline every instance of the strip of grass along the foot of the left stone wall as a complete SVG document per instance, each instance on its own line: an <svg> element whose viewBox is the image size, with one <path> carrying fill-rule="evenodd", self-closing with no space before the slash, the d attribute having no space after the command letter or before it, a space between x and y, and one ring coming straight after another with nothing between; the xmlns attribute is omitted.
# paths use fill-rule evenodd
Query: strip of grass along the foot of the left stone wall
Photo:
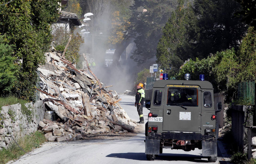
<svg viewBox="0 0 256 164"><path fill-rule="evenodd" d="M46 141L45 135L42 132L34 132L26 135L17 140L18 144L26 151L29 152L33 148L38 148ZM7 148L0 151L0 163L7 163L10 160L18 159L18 157L25 154L17 144L14 142Z"/></svg>

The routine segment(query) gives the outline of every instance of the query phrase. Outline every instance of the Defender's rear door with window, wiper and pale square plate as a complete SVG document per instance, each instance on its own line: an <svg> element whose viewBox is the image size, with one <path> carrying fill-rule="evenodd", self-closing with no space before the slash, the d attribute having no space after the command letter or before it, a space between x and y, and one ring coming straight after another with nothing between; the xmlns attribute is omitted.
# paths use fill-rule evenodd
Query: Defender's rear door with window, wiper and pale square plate
<svg viewBox="0 0 256 164"><path fill-rule="evenodd" d="M165 86L163 131L201 132L201 94L198 85Z"/></svg>

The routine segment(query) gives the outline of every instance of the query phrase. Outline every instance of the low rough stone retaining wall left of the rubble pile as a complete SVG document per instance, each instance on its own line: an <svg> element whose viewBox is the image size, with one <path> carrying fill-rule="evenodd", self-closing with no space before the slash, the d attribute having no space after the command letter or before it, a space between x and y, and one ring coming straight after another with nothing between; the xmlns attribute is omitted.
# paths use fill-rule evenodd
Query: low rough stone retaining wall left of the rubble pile
<svg viewBox="0 0 256 164"><path fill-rule="evenodd" d="M1 108L1 115L3 120L0 119L0 149L7 148L11 141L11 135L16 139L28 135L29 133L37 131L39 121L43 120L44 108L43 101L37 101L35 104L32 102L26 103L25 106L28 110L32 111L30 116L21 113L21 104L14 104L3 106ZM5 124L3 123L5 122ZM9 129L11 135L9 134Z"/></svg>

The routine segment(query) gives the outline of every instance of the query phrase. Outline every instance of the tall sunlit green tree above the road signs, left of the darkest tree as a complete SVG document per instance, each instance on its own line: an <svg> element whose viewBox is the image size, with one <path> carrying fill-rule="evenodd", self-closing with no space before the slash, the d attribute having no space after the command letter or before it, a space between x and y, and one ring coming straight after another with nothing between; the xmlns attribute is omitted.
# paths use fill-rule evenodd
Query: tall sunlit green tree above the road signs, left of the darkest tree
<svg viewBox="0 0 256 164"><path fill-rule="evenodd" d="M184 7L184 1L179 0L176 10L163 28L163 35L157 45L157 63L167 70L171 68L170 75L175 75L183 64L181 59L184 59L184 55L177 54L177 51L187 43L188 10L189 7ZM191 58L189 55L186 57Z"/></svg>

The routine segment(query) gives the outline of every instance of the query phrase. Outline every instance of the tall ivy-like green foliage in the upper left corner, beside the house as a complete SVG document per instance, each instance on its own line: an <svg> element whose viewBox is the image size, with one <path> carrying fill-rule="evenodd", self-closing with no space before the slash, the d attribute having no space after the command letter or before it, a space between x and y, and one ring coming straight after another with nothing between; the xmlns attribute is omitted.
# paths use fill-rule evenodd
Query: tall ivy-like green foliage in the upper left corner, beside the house
<svg viewBox="0 0 256 164"><path fill-rule="evenodd" d="M1 1L3 2L3 1ZM32 99L37 82L37 68L44 63L44 52L51 41L51 24L58 15L59 0L15 0L0 6L0 34L6 34L19 66L18 96Z"/></svg>

